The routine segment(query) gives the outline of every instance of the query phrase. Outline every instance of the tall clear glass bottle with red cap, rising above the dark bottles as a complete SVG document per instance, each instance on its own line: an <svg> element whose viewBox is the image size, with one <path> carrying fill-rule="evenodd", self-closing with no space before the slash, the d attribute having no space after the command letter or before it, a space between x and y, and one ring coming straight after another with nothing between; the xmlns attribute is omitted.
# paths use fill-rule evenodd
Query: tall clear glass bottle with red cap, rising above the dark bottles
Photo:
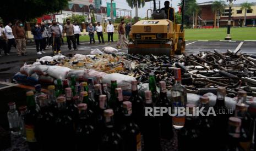
<svg viewBox="0 0 256 151"><path fill-rule="evenodd" d="M187 92L181 85L181 69L175 68L175 85L171 89L172 111L177 107L186 107ZM184 116L172 117L172 125L175 129L181 129L185 124Z"/></svg>

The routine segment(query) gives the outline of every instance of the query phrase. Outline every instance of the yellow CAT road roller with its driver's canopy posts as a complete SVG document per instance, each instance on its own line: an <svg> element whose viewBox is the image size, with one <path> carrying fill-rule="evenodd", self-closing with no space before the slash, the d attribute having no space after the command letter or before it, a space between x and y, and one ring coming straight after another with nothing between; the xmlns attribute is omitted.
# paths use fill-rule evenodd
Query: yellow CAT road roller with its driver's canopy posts
<svg viewBox="0 0 256 151"><path fill-rule="evenodd" d="M173 8L156 10L155 0L153 1L154 10L147 10L147 20L140 20L132 26L129 33L128 54L170 56L183 53L186 47L183 30L184 0L182 0L181 24L176 24ZM148 19L148 11L151 11L153 19Z"/></svg>

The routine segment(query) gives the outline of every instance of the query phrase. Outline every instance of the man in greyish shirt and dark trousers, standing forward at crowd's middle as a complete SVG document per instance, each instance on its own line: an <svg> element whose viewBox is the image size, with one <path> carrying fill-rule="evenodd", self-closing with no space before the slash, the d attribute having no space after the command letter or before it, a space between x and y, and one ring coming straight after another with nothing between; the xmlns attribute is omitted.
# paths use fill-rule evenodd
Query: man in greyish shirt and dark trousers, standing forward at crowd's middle
<svg viewBox="0 0 256 151"><path fill-rule="evenodd" d="M55 20L52 21L52 26L50 27L50 33L53 37L53 53L61 53L61 29L57 26L57 22Z"/></svg>

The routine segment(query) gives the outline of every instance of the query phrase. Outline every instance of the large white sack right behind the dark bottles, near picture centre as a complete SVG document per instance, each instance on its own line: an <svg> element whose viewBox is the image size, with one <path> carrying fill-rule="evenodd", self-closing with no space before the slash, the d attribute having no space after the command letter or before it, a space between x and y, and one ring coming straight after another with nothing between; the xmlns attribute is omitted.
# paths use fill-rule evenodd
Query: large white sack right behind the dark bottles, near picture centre
<svg viewBox="0 0 256 151"><path fill-rule="evenodd" d="M129 75L112 73L107 74L102 77L102 82L106 83L108 87L111 87L111 80L117 80L118 88L122 88L123 90L123 101L128 101L130 96L132 95L132 80L136 80L134 77L130 77Z"/></svg>

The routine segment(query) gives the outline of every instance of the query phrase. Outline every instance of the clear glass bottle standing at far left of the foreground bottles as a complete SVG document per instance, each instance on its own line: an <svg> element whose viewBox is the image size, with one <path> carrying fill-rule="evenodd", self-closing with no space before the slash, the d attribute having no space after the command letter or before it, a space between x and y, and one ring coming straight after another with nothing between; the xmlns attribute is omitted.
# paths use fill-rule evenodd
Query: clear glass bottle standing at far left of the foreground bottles
<svg viewBox="0 0 256 151"><path fill-rule="evenodd" d="M7 118L9 121L9 128L10 132L12 132L14 135L20 135L21 134L21 127L20 127L20 118L19 113L16 109L15 102L9 102L9 111L7 112Z"/></svg>

